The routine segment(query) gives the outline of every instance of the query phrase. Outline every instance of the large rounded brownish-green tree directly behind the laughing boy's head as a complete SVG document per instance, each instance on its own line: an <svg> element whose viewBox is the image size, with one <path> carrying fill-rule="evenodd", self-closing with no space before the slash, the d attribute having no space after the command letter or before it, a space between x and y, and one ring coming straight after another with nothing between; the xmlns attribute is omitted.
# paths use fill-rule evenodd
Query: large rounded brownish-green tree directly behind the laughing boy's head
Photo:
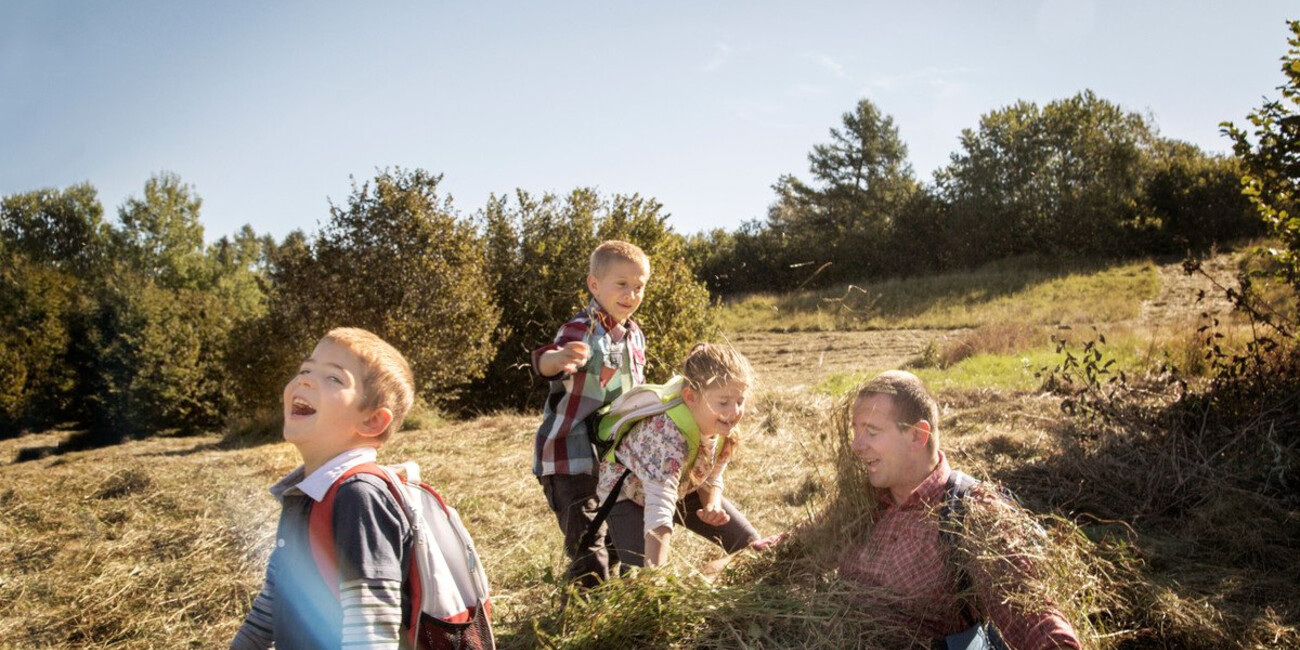
<svg viewBox="0 0 1300 650"><path fill-rule="evenodd" d="M482 240L439 196L441 181L421 169L382 170L354 183L344 205L330 207L309 246L294 234L272 252L266 317L250 332L268 337L260 347L277 367L257 368L254 384L282 384L335 326L365 328L393 343L426 400L447 403L482 376L500 309ZM246 396L252 407L278 395Z"/></svg>

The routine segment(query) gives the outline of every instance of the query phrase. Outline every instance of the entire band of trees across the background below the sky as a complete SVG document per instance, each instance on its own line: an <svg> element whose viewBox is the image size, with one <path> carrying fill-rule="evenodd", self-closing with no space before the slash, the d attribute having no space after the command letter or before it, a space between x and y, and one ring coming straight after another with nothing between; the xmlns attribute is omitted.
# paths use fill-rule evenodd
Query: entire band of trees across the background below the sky
<svg viewBox="0 0 1300 650"><path fill-rule="evenodd" d="M965 130L924 185L893 118L863 99L809 153L811 179L777 179L766 220L690 237L654 199L590 188L519 190L465 214L421 169L354 181L318 233L278 242L244 226L204 243L202 199L172 173L150 178L114 221L90 183L9 195L0 436L72 424L112 441L274 412L287 373L339 325L403 350L429 404L536 404L528 352L585 304L588 254L610 238L651 257L638 312L653 333L651 380L714 334L710 300L729 292L1024 255L1197 252L1266 231L1286 244L1295 282L1288 110L1265 105L1251 116L1254 134L1227 126L1227 157L1161 138L1149 117L1088 91L1020 101ZM1280 170L1260 172L1268 165ZM1264 220L1261 198L1278 207Z"/></svg>

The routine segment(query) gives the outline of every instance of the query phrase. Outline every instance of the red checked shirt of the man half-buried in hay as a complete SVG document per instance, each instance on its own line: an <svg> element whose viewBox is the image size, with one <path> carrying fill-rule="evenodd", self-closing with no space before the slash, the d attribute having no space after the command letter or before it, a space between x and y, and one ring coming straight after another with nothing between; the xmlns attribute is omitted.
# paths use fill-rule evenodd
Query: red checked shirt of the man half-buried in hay
<svg viewBox="0 0 1300 650"><path fill-rule="evenodd" d="M954 550L939 537L939 508L950 472L948 459L940 452L939 465L901 506L888 490L881 490L866 546L849 549L840 560L841 575L879 589L885 599L893 601L890 604L905 612L897 616L900 623L913 629L919 640L942 638L970 627L950 567L949 554ZM971 507L1005 503L979 485L968 499ZM1008 562L998 564L1014 567L1023 575L1028 562L1014 550L1014 542L1008 546L1000 552ZM1079 647L1074 628L1060 612L1048 607L1041 612L1011 607L1006 603L1006 581L993 580L991 567L976 564L983 563L972 562L970 576L980 611L987 612L1011 647Z"/></svg>

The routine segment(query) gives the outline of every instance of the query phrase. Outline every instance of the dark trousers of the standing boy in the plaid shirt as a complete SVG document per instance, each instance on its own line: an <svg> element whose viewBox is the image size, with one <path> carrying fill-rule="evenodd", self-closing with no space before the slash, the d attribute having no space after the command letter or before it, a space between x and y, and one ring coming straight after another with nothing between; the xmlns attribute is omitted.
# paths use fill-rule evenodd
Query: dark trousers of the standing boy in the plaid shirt
<svg viewBox="0 0 1300 650"><path fill-rule="evenodd" d="M538 477L546 504L555 514L555 521L564 533L564 552L569 558L566 577L581 586L595 586L610 577L611 560L618 563L608 536L602 524L592 546L578 549L582 534L595 519L601 503L595 498L595 477L592 474L550 474ZM611 558L612 556L612 558Z"/></svg>

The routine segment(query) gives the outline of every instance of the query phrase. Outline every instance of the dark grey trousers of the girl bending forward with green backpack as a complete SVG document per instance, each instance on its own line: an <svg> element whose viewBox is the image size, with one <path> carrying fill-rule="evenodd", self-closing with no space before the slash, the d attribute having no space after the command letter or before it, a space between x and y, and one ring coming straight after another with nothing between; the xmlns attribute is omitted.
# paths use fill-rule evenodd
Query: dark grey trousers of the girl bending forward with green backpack
<svg viewBox="0 0 1300 650"><path fill-rule="evenodd" d="M699 493L693 491L677 500L677 510L673 512L672 520L675 524L685 525L692 533L722 546L727 552L744 550L758 541L758 530L754 530L745 515L736 510L736 506L725 497L723 498L723 511L731 516L731 521L720 526L712 526L699 520L696 511L702 507L705 506L699 500ZM619 559L624 564L644 567L646 554L645 508L630 499L620 500L610 511L608 525Z"/></svg>

